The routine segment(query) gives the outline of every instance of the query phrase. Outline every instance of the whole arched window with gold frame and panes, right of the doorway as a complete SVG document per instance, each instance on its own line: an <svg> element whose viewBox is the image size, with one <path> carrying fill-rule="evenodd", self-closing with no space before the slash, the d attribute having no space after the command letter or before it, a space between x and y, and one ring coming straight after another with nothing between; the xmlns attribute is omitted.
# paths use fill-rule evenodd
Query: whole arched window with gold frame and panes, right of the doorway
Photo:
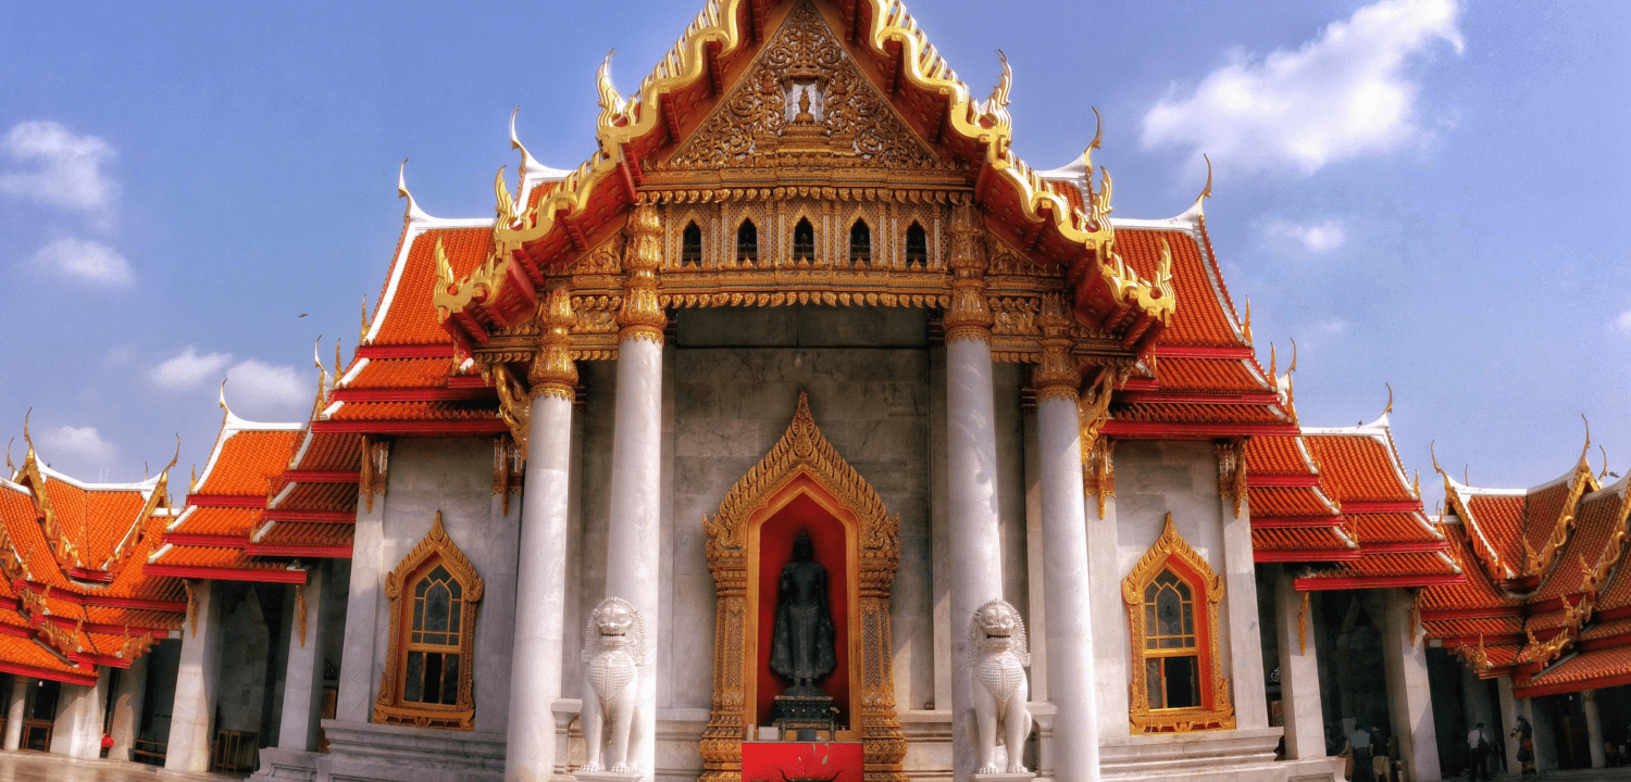
<svg viewBox="0 0 1631 782"><path fill-rule="evenodd" d="M1230 730L1235 707L1218 657L1223 580L1166 515L1161 538L1122 582L1132 629L1134 733Z"/></svg>

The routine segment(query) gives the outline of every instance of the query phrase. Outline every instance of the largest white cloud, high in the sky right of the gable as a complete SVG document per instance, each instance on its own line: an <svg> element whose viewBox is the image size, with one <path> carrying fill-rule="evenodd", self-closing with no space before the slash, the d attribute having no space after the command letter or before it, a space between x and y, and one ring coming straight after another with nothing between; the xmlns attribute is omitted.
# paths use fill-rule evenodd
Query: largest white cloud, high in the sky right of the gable
<svg viewBox="0 0 1631 782"><path fill-rule="evenodd" d="M1186 145L1244 171L1295 169L1430 138L1406 64L1437 42L1461 51L1458 0L1381 0L1333 21L1297 51L1235 52L1143 116L1143 147Z"/></svg>

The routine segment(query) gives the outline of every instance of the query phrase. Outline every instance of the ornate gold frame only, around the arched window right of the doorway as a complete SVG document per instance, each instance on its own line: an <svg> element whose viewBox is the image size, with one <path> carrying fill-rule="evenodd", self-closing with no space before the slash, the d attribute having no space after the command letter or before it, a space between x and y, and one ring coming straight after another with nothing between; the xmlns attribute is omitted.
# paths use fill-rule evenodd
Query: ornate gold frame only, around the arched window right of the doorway
<svg viewBox="0 0 1631 782"><path fill-rule="evenodd" d="M1178 567L1171 567L1176 564ZM1173 570L1181 582L1189 585L1194 595L1196 632L1204 637L1196 639L1196 676L1200 689L1200 705L1184 709L1151 709L1150 686L1145 674L1145 661L1150 658L1171 657L1168 653L1150 653L1145 648L1147 629L1143 626L1143 590L1165 570ZM1129 704L1129 730L1142 733L1187 733L1197 730L1233 730L1235 705L1228 696L1228 678L1223 676L1223 658L1218 653L1218 603L1223 600L1223 578L1207 567L1205 557L1196 552L1178 534L1173 526L1173 515L1166 515L1161 526L1161 538L1150 546L1132 573L1122 580L1122 601L1127 604L1127 621L1132 629L1132 686Z"/></svg>

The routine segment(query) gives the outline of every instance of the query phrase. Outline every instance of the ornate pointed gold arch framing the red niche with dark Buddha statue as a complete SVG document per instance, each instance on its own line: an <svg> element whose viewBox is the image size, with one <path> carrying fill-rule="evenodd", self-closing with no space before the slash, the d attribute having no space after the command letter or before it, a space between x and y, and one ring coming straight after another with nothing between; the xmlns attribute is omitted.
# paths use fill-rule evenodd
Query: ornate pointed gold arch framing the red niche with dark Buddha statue
<svg viewBox="0 0 1631 782"><path fill-rule="evenodd" d="M758 718L758 531L798 499L814 500L845 526L843 578L851 601L842 621L850 629L850 727L864 745L866 780L905 782L900 761L907 746L895 720L889 640L889 586L900 564L900 516L884 512L884 500L871 484L822 437L802 391L788 432L731 487L719 512L703 520L718 619L701 779L742 779L742 741Z"/></svg>

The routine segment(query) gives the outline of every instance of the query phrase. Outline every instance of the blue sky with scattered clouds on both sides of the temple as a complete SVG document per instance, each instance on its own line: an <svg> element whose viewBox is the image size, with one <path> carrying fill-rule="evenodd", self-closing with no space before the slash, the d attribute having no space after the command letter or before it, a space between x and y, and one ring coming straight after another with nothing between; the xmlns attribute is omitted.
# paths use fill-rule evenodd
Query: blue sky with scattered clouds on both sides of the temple
<svg viewBox="0 0 1631 782"><path fill-rule="evenodd" d="M0 438L86 479L209 453L215 388L294 420L312 344L349 357L403 202L489 215L515 165L594 150L594 68L631 90L698 3L15 3L0 15ZM1580 415L1631 468L1631 7L1484 0L920 2L983 94L1014 68L1016 150L1096 163L1117 217L1171 217L1217 163L1209 228L1267 360L1300 345L1306 425L1391 383L1481 485L1566 471ZM300 314L305 313L305 318ZM1593 464L1600 456L1592 448ZM18 442L16 455L21 455ZM1435 481L1424 481L1434 490ZM1432 502L1432 500L1429 500Z"/></svg>

